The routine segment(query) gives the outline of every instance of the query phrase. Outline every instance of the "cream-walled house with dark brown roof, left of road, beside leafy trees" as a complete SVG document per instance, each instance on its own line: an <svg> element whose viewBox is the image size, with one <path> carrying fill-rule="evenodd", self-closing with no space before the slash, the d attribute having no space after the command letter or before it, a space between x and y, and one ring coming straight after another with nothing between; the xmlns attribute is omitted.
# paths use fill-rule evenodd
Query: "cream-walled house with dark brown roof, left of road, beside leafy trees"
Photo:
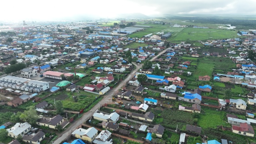
<svg viewBox="0 0 256 144"><path fill-rule="evenodd" d="M61 125L63 128L68 125L69 122L64 121L63 117L58 114L52 118L41 117L37 120L36 124L40 126L47 126L55 129L57 125Z"/></svg>

